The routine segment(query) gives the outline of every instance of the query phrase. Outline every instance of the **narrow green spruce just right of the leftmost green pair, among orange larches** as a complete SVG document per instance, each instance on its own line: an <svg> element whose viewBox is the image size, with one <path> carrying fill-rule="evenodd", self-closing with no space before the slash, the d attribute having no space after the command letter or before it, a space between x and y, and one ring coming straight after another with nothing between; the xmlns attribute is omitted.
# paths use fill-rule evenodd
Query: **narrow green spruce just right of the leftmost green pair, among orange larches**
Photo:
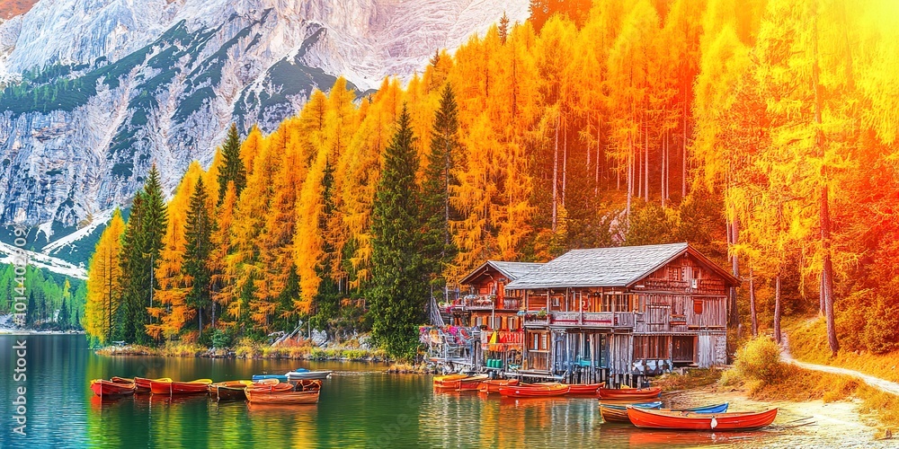
<svg viewBox="0 0 899 449"><path fill-rule="evenodd" d="M203 334L203 314L212 305L209 291L212 273L209 271L206 260L209 259L209 251L212 249L212 243L209 240L215 220L209 214L208 203L209 194L206 186L203 185L202 177L200 177L193 189L191 205L187 212L187 223L184 225L184 238L187 244L184 249L182 266L184 274L193 279L185 302L197 310L197 329L200 330L200 336Z"/></svg>

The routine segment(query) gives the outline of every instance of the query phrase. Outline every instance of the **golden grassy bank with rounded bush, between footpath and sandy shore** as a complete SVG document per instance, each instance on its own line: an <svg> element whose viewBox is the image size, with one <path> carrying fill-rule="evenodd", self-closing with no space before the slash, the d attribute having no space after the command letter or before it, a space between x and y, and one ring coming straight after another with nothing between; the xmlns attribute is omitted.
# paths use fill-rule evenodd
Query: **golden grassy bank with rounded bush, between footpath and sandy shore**
<svg viewBox="0 0 899 449"><path fill-rule="evenodd" d="M879 427L899 431L899 396L881 392L858 379L810 371L780 361L780 348L767 338L750 340L737 351L734 367L719 383L745 390L757 401L859 401L859 411Z"/></svg>

